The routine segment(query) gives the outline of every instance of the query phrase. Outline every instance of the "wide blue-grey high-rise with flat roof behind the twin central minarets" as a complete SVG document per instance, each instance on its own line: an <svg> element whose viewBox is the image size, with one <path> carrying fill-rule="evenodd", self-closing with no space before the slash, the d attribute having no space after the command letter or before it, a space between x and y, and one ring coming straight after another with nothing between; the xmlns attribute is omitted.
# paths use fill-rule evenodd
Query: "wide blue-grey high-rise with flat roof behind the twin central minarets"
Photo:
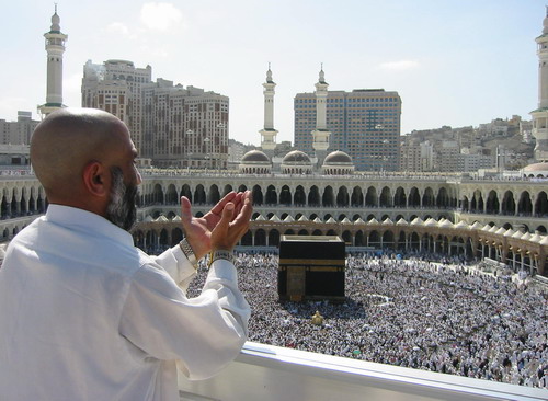
<svg viewBox="0 0 548 401"><path fill-rule="evenodd" d="M297 93L295 147L311 153L317 128L317 94ZM327 91L326 129L329 150L343 150L356 170L397 171L399 168L401 99L384 89Z"/></svg>

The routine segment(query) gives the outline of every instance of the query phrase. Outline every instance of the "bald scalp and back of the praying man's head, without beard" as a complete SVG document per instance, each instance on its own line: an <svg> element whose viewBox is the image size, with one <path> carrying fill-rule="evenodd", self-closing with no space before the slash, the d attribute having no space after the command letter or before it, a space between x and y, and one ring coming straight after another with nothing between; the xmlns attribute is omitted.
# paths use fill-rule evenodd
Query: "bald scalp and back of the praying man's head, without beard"
<svg viewBox="0 0 548 401"><path fill-rule="evenodd" d="M82 180L85 167L91 162L115 165L127 142L125 124L112 114L64 108L48 115L34 130L31 161L49 200L71 204L87 196Z"/></svg>

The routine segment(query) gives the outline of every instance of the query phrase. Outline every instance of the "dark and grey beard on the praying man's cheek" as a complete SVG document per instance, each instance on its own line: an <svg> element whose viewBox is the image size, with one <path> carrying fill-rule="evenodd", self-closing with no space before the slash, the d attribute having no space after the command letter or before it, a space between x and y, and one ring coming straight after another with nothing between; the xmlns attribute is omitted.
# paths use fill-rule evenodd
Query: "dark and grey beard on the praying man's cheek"
<svg viewBox="0 0 548 401"><path fill-rule="evenodd" d="M129 231L137 220L135 205L137 186L125 185L124 173L117 167L111 169L111 177L112 191L111 199L106 206L106 219L123 230Z"/></svg>

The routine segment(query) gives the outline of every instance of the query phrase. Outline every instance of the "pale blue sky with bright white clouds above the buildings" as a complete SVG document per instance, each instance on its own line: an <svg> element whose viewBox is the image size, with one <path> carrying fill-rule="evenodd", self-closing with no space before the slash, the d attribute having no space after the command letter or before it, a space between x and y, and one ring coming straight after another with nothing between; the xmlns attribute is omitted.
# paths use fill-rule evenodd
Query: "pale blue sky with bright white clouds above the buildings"
<svg viewBox="0 0 548 401"><path fill-rule="evenodd" d="M2 11L0 118L14 121L45 102L54 2ZM546 9L540 0L59 0L58 14L69 35L65 104L80 106L88 59L127 59L152 66L153 79L228 95L230 137L259 145L269 61L278 141L293 141L293 98L313 92L321 62L330 90L398 91L402 134L529 119Z"/></svg>

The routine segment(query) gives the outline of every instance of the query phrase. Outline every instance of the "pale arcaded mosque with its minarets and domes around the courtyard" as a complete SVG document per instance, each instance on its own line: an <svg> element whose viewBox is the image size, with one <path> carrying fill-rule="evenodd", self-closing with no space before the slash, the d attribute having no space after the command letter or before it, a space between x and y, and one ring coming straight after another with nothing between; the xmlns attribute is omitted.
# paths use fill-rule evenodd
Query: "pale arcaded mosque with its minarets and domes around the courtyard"
<svg viewBox="0 0 548 401"><path fill-rule="evenodd" d="M48 85L47 104L62 106L58 75L62 73L60 56L67 35L60 33L59 21L56 12L45 35L46 47L57 46L54 49L59 56L59 61L48 61L48 82L55 84ZM546 31L548 18L544 24ZM545 36L537 43L543 89L548 88L548 73L543 68ZM323 70L316 83L316 126L309 134L313 154L293 150L279 163L273 163L275 85L269 66L263 83L264 127L260 130L263 150L246 153L238 171L142 170L138 224L132 231L137 245L159 251L182 238L182 195L201 216L226 193L250 190L254 215L240 241L241 249L274 249L284 234L340 236L349 250L415 250L464 259L489 257L514 271L548 276L548 175L543 170L548 154L548 112L544 111L548 94L544 90L539 108L532 112L537 163L518 175L484 180L460 173L361 172L347 152L328 152L326 144L332 133L326 124L329 102L322 101L329 93ZM2 175L0 238L9 241L46 206L44 188L34 175Z"/></svg>

